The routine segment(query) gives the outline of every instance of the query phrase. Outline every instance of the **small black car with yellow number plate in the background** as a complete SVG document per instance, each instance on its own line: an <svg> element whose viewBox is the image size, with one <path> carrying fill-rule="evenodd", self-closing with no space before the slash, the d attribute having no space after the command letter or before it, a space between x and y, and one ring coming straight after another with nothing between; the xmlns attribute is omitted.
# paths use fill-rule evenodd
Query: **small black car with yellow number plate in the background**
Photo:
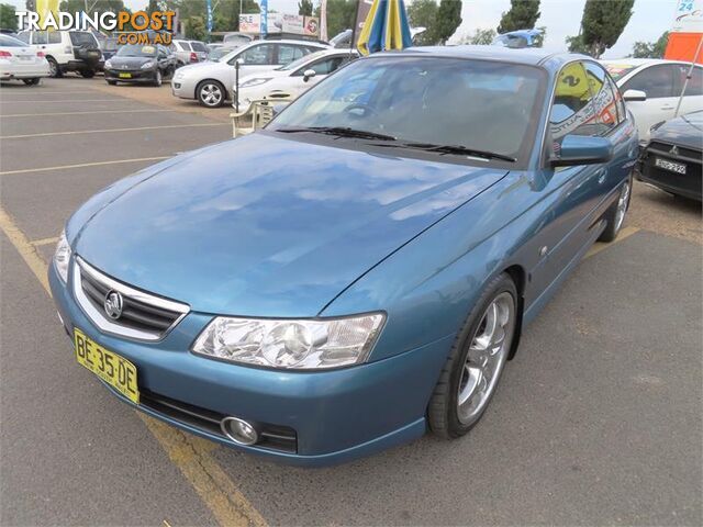
<svg viewBox="0 0 703 527"><path fill-rule="evenodd" d="M176 70L176 57L161 45L125 44L105 61L105 81L161 86Z"/></svg>

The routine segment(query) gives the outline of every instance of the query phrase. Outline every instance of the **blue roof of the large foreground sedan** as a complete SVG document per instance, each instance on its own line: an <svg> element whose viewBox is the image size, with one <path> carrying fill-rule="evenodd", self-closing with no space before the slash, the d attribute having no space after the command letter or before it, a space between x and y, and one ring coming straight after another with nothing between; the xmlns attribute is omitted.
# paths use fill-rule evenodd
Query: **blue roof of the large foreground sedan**
<svg viewBox="0 0 703 527"><path fill-rule="evenodd" d="M419 46L409 47L402 52L384 52L379 55L386 54L402 54L402 55L428 55L433 57L447 57L447 58L476 58L482 60L495 60L502 63L525 64L529 66L539 66L547 60L556 61L558 64L565 64L573 60L574 58L591 59L585 55L578 55L574 53L554 53L547 52L538 47L526 47L521 49L511 49L502 46L472 46L472 45L459 45L459 46Z"/></svg>

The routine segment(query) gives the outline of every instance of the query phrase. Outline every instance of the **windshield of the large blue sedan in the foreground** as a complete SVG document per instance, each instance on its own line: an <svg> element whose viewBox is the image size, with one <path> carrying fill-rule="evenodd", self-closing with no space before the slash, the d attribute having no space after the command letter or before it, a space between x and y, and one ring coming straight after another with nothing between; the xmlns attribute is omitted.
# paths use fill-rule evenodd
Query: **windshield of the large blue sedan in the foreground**
<svg viewBox="0 0 703 527"><path fill-rule="evenodd" d="M344 127L524 161L545 77L538 68L499 61L366 58L304 93L267 130Z"/></svg>

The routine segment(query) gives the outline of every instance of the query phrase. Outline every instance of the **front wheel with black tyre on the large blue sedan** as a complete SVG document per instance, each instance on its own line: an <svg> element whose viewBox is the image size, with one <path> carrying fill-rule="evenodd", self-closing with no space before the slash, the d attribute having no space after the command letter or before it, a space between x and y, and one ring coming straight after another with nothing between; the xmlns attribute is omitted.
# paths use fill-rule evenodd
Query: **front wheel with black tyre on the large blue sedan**
<svg viewBox="0 0 703 527"><path fill-rule="evenodd" d="M469 314L427 407L429 429L454 439L481 418L500 380L517 327L517 290L505 273L494 278Z"/></svg>

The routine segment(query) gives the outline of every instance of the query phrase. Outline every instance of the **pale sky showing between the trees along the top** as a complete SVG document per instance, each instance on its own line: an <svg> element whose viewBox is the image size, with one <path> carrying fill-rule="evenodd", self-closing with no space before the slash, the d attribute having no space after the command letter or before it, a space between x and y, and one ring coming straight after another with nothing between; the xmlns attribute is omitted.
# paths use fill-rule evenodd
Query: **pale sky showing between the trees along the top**
<svg viewBox="0 0 703 527"><path fill-rule="evenodd" d="M24 9L24 0L0 0ZM410 3L411 0L406 0ZM138 10L148 3L146 0L125 0L130 9ZM216 0L213 0L216 3ZM314 0L317 3L317 0ZM581 14L585 0L542 0L542 16L537 26L547 26L545 48L554 52L565 51L565 38L579 32ZM654 42L667 31L673 22L677 0L635 0L634 13L617 43L603 55L604 58L620 58L632 53L636 41ZM495 29L503 11L510 8L510 0L464 0L461 25L454 40L473 33L477 29ZM281 13L297 13L298 0L269 0L269 9ZM331 35L332 36L332 35ZM451 42L451 41L450 41Z"/></svg>

